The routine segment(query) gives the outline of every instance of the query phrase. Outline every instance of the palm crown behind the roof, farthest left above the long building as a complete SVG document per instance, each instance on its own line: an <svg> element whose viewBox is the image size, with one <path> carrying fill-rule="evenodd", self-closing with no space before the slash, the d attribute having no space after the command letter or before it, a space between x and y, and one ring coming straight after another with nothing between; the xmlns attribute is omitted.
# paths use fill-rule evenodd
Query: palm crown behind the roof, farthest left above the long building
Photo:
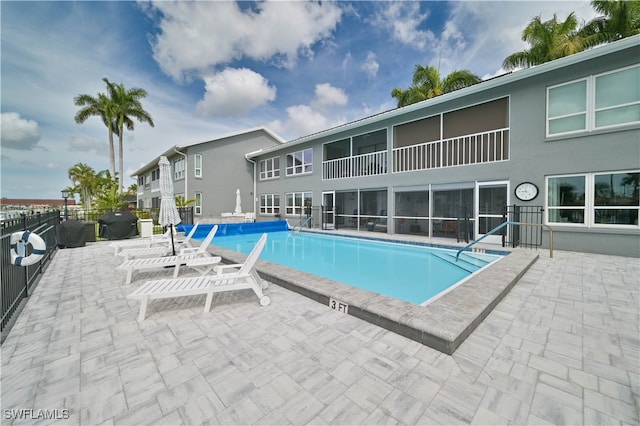
<svg viewBox="0 0 640 426"><path fill-rule="evenodd" d="M413 84L407 89L394 88L391 96L398 100L398 108L431 99L480 82L480 77L468 70L453 71L441 78L440 70L427 65L416 65Z"/></svg>

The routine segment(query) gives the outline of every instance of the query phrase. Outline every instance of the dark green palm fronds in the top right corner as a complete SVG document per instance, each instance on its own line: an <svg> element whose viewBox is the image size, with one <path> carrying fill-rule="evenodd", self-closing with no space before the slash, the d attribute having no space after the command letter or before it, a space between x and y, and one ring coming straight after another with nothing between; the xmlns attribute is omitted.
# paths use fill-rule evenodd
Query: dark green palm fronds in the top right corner
<svg viewBox="0 0 640 426"><path fill-rule="evenodd" d="M640 2L592 0L591 6L602 16L592 19L580 30L590 46L640 34Z"/></svg>

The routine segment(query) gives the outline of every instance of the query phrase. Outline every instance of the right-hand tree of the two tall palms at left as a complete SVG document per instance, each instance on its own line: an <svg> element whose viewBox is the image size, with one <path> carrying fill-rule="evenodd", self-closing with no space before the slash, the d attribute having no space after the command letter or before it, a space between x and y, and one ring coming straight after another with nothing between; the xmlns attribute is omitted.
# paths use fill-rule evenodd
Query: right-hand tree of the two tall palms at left
<svg viewBox="0 0 640 426"><path fill-rule="evenodd" d="M106 77L102 79L107 85L108 96L113 102L112 113L116 122L116 132L118 135L118 161L119 161L119 184L118 191L122 192L123 189L123 151L124 151L124 127L127 126L127 130L132 131L134 124L132 119L136 119L142 123L149 123L151 127L154 127L153 119L151 115L142 107L140 99L147 96L147 91L138 87L133 89L126 89L124 84L115 84L110 82Z"/></svg>

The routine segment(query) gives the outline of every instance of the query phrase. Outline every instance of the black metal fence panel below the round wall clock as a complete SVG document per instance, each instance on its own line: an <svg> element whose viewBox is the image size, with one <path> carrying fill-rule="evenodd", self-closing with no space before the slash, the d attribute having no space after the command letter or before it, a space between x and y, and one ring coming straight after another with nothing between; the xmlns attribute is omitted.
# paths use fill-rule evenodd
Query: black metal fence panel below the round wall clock
<svg viewBox="0 0 640 426"><path fill-rule="evenodd" d="M542 206L505 206L504 221L542 224ZM502 246L537 248L542 246L542 227L509 225L508 231L502 233Z"/></svg>

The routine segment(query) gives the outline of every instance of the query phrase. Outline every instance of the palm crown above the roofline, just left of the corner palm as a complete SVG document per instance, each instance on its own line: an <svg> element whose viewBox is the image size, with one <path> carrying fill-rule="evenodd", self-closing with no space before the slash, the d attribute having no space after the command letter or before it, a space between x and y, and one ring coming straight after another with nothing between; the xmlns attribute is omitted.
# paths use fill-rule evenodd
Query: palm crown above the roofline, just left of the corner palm
<svg viewBox="0 0 640 426"><path fill-rule="evenodd" d="M555 14L545 22L536 16L522 32L522 40L531 48L509 55L502 64L503 68L528 68L581 52L588 43L576 30L577 27L574 13L570 13L564 22L558 22Z"/></svg>

